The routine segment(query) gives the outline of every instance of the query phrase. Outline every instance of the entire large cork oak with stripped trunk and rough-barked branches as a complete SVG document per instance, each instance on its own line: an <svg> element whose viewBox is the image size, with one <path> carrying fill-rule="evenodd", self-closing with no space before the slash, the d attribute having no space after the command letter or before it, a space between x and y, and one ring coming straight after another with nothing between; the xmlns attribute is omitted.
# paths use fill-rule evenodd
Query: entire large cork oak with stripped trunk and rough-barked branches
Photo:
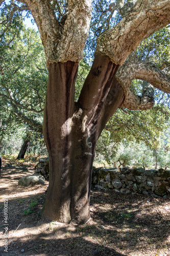
<svg viewBox="0 0 170 256"><path fill-rule="evenodd" d="M107 121L119 106L130 110L151 109L154 91L150 84L169 92L168 76L130 53L144 38L169 24L170 2L109 3L105 12L106 16L109 13L105 19L107 30L96 41L94 61L76 103L75 82L88 37L91 1L18 2L32 12L48 67L43 135L49 155L50 182L44 215L63 222L75 218L84 222L90 217L95 145ZM106 5L106 1L100 3ZM121 17L111 27L109 20L114 10ZM100 22L98 25L101 26ZM118 70L120 65L123 66ZM135 78L147 81L142 83L141 95L131 91Z"/></svg>

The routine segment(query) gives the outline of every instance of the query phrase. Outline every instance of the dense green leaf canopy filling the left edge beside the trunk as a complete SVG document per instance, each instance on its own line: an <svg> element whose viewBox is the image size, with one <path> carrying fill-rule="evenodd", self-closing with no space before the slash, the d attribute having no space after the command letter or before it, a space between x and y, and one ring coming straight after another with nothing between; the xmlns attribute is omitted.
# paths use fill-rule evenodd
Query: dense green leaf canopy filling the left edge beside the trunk
<svg viewBox="0 0 170 256"><path fill-rule="evenodd" d="M22 127L38 131L42 125L47 83L43 47L38 32L26 29L21 20L20 31L12 38L11 26L0 41L2 122L20 123ZM6 30L4 24L0 25L0 29Z"/></svg>

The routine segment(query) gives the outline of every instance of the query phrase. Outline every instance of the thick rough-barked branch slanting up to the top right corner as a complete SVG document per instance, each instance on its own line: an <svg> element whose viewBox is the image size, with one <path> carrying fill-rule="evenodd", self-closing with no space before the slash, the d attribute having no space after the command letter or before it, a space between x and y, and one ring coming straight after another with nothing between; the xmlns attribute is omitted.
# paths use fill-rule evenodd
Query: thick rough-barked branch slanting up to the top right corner
<svg viewBox="0 0 170 256"><path fill-rule="evenodd" d="M107 55L122 65L139 42L170 23L169 0L138 0L131 12L112 29L103 32L95 54Z"/></svg>

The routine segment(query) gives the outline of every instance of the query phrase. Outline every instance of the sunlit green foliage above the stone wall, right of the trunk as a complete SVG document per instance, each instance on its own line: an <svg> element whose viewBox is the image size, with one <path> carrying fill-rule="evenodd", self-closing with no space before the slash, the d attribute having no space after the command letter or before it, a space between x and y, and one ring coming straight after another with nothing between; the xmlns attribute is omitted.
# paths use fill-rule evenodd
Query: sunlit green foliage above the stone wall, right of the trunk
<svg viewBox="0 0 170 256"><path fill-rule="evenodd" d="M167 106L155 105L152 110L128 111L119 109L107 123L105 130L102 132L96 146L96 161L106 160L110 165L112 162L131 163L134 155L131 154L133 147L141 143L147 146L148 150L153 151L155 148L161 147L161 136L169 126L169 110ZM166 123L166 125L164 125ZM126 142L126 143L125 143ZM131 144L131 148L127 148L127 143ZM123 143L126 153L122 153L121 157L118 153L119 145ZM122 148L122 151L125 151ZM128 153L129 152L129 153ZM140 155L140 150L139 150ZM135 156L137 157L137 156ZM114 160L113 159L117 159ZM124 160L123 160L124 159ZM139 164L139 160L136 159ZM140 158L141 164L144 159ZM147 163L146 165L149 165ZM132 163L130 164L132 165Z"/></svg>

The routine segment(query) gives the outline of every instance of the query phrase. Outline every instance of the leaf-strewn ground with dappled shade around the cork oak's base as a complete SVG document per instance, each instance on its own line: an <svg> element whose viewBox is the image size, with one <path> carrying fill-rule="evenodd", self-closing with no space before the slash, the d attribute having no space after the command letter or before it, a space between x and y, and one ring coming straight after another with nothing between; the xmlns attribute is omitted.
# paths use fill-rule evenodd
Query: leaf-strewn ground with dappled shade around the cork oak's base
<svg viewBox="0 0 170 256"><path fill-rule="evenodd" d="M169 256L170 199L91 188L91 219L63 224L41 216L48 182L22 187L35 163L3 159L0 176L0 254L62 256ZM4 205L8 200L8 219ZM7 207L6 207L7 208ZM8 230L4 227L8 227ZM8 232L8 252L4 232Z"/></svg>

